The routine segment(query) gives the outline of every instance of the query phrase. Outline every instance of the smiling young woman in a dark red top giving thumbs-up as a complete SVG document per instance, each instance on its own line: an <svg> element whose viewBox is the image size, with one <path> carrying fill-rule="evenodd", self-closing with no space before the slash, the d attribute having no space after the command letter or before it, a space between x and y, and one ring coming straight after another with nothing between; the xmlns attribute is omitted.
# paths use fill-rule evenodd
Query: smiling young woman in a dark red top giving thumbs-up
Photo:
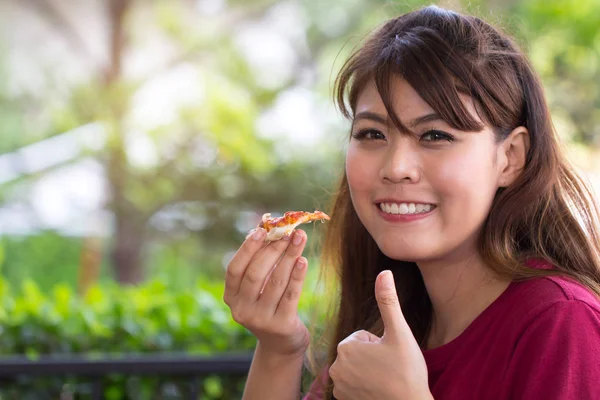
<svg viewBox="0 0 600 400"><path fill-rule="evenodd" d="M305 399L600 399L598 209L514 42L426 7L367 38L336 95L352 120L323 246L338 303ZM226 277L258 338L244 398L298 399L306 235L262 238Z"/></svg>

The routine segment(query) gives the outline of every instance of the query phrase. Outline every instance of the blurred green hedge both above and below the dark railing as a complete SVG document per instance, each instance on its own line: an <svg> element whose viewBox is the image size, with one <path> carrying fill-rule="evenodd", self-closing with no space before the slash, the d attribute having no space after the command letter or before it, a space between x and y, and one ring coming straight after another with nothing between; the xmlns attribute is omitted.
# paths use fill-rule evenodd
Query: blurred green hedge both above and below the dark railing
<svg viewBox="0 0 600 400"><path fill-rule="evenodd" d="M301 301L305 320L316 299L311 293ZM104 284L78 296L69 285L57 285L46 294L32 281L11 288L0 279L0 355L35 359L46 354L251 351L254 336L232 320L222 297L222 282L199 281L194 290L184 292L157 281L136 287ZM73 398L88 398L77 394L89 391L83 380L57 377L23 378L10 387L3 385L0 399L59 398L65 382L76 392ZM104 384L105 398L116 400L179 398L176 394L185 391L186 382L110 376ZM202 384L202 398L207 399L239 398L243 387L239 379L218 376ZM40 397L42 393L48 397Z"/></svg>

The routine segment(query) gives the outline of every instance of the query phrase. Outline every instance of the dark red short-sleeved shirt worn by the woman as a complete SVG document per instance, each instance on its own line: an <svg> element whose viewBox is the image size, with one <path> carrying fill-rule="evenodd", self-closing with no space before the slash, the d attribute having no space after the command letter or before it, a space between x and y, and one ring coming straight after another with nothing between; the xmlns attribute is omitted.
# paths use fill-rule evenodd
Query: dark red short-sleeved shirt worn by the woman
<svg viewBox="0 0 600 400"><path fill-rule="evenodd" d="M423 356L436 400L600 400L600 301L569 278L512 282Z"/></svg>

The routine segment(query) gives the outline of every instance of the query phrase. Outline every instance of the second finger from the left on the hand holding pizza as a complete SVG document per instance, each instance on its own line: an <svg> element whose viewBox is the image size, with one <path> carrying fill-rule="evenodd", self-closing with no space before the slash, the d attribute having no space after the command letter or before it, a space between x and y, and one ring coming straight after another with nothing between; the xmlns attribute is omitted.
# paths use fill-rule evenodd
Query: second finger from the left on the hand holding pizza
<svg viewBox="0 0 600 400"><path fill-rule="evenodd" d="M283 255L290 244L289 238L283 238L269 243L261 249L250 261L244 271L240 282L240 289L236 296L241 296L245 301L255 302L263 287L267 274Z"/></svg>

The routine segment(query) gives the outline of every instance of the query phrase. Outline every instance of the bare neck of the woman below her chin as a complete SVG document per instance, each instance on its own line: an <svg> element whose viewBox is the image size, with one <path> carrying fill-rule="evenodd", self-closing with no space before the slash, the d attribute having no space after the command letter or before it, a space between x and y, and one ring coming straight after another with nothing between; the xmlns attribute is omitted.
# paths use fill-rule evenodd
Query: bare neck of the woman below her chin
<svg viewBox="0 0 600 400"><path fill-rule="evenodd" d="M475 252L453 260L420 262L418 266L433 306L427 349L460 335L510 283L493 274Z"/></svg>

